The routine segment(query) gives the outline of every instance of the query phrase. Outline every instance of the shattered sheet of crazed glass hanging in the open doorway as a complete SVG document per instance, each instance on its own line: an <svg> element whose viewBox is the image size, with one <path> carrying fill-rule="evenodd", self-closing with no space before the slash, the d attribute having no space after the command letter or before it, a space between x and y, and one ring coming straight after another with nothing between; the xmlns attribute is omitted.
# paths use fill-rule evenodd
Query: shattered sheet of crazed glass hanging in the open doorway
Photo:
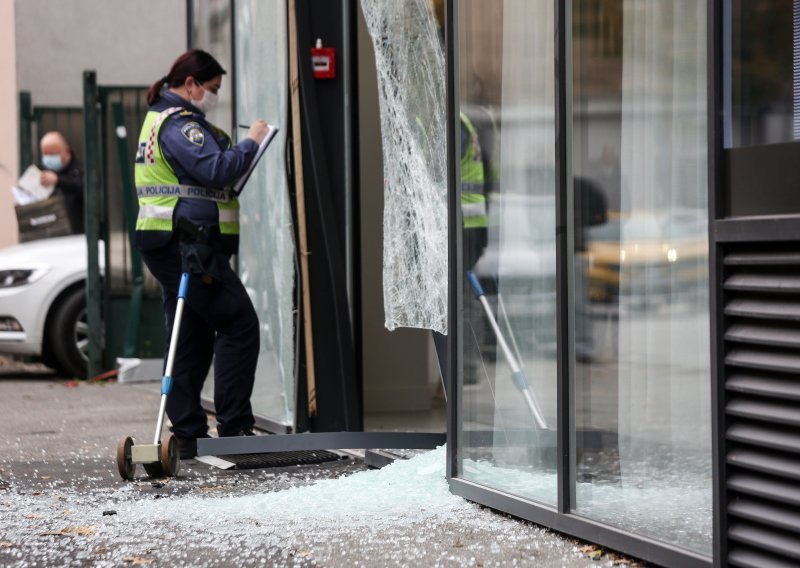
<svg viewBox="0 0 800 568"><path fill-rule="evenodd" d="M383 139L385 326L447 333L445 60L430 0L362 0Z"/></svg>

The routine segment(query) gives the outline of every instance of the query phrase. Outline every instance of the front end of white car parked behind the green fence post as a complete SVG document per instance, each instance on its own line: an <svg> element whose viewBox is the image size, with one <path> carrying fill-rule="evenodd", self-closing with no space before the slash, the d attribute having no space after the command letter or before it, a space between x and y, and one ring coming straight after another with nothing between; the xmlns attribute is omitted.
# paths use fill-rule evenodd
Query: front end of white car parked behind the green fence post
<svg viewBox="0 0 800 568"><path fill-rule="evenodd" d="M0 249L0 353L86 377L86 274L85 235Z"/></svg>

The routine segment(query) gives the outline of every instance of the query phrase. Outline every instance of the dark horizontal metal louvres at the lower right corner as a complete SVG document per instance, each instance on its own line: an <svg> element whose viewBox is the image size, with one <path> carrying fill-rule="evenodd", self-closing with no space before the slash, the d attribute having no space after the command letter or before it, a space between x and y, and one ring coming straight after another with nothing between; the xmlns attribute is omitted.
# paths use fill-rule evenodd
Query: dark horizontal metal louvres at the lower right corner
<svg viewBox="0 0 800 568"><path fill-rule="evenodd" d="M723 254L728 564L800 565L800 243Z"/></svg>

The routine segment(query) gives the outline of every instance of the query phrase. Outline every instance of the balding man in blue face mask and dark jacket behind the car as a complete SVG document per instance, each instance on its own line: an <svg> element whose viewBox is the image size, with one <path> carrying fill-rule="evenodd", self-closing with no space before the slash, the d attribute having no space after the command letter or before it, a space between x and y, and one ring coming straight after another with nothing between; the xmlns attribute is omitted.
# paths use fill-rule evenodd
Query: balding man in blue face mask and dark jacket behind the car
<svg viewBox="0 0 800 568"><path fill-rule="evenodd" d="M73 234L81 234L83 225L83 168L72 153L64 135L58 131L48 132L39 143L42 158L40 182L44 186L55 186L53 195L63 195L70 228Z"/></svg>

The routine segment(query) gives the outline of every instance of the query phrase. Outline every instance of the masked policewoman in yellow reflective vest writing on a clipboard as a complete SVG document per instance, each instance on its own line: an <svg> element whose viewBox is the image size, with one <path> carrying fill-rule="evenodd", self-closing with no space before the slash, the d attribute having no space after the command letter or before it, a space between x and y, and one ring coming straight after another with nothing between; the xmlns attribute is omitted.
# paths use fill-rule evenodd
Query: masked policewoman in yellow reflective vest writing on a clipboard
<svg viewBox="0 0 800 568"><path fill-rule="evenodd" d="M136 247L162 288L171 337L178 286L190 273L167 415L182 459L208 437L200 391L214 360L214 405L220 436L253 435L253 391L259 323L230 258L239 246L239 203L229 189L246 172L267 134L263 120L233 146L206 120L225 70L190 50L148 91L139 135Z"/></svg>

